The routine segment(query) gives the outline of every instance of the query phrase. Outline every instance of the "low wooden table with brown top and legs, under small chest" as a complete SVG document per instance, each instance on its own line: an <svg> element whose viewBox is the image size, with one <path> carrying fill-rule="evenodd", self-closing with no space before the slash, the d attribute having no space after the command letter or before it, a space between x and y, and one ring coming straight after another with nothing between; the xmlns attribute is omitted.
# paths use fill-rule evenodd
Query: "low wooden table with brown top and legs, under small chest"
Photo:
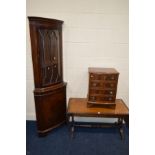
<svg viewBox="0 0 155 155"><path fill-rule="evenodd" d="M112 124L100 123L100 124L79 124L75 122L74 117L106 117L106 118L118 118L118 122ZM70 121L71 118L71 121ZM88 107L86 98L70 98L68 103L67 120L71 131L71 137L74 137L74 130L76 126L80 127L119 127L121 139L124 139L123 121L128 123L129 109L125 105L122 99L116 99L115 107ZM110 126L109 126L110 125Z"/></svg>

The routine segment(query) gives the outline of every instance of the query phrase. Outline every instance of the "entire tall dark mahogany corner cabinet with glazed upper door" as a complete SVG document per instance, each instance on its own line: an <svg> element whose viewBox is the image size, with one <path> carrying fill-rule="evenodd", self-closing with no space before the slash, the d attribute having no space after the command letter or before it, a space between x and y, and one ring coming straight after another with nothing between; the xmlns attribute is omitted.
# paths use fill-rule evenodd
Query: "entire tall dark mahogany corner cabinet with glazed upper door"
<svg viewBox="0 0 155 155"><path fill-rule="evenodd" d="M66 83L63 81L63 21L28 17L34 73L34 97L39 135L66 121Z"/></svg>

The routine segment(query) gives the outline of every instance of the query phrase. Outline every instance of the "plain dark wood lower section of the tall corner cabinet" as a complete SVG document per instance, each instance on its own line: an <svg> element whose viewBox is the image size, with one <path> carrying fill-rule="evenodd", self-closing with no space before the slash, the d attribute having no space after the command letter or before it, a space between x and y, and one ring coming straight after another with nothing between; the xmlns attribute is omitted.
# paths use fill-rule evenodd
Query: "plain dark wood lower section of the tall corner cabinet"
<svg viewBox="0 0 155 155"><path fill-rule="evenodd" d="M34 96L39 135L65 122L66 86Z"/></svg>

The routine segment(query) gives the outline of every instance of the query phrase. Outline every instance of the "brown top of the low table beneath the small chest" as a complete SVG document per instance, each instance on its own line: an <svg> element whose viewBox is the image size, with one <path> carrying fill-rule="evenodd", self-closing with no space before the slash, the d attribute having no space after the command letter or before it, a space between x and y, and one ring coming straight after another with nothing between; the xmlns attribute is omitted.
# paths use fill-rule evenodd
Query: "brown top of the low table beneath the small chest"
<svg viewBox="0 0 155 155"><path fill-rule="evenodd" d="M67 114L75 116L95 117L122 117L129 115L129 109L122 99L116 99L116 106L110 107L87 107L86 98L70 98Z"/></svg>

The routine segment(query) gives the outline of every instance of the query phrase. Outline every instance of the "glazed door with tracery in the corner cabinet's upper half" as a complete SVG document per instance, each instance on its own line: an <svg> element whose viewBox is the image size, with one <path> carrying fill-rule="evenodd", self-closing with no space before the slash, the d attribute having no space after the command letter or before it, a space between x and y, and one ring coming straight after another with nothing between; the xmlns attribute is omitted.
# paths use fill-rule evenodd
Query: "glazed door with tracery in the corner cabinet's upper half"
<svg viewBox="0 0 155 155"><path fill-rule="evenodd" d="M42 86L62 82L62 64L59 29L38 30Z"/></svg>

